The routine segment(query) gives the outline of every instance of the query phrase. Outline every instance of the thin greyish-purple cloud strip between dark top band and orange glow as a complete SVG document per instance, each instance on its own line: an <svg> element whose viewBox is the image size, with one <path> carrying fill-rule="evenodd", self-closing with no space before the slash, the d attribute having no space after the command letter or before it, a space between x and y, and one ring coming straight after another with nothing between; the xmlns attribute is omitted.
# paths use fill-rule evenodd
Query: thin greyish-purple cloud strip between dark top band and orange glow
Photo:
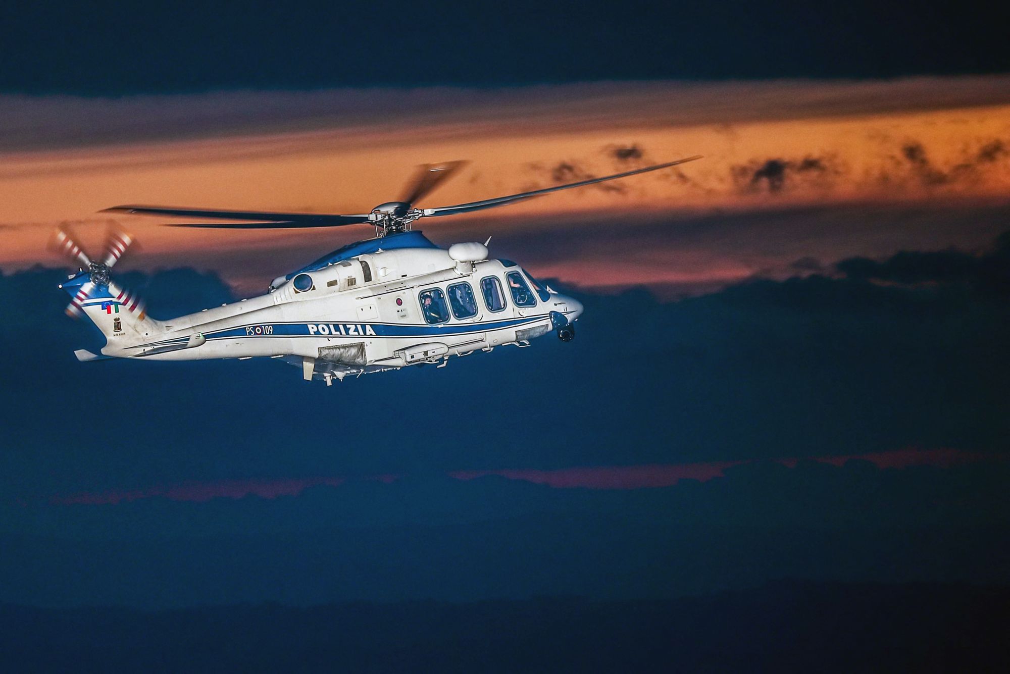
<svg viewBox="0 0 1010 674"><path fill-rule="evenodd" d="M0 95L0 151L115 146L167 138L482 122L545 128L726 125L1010 103L1007 76L866 82L645 82L508 87L215 91L115 98ZM486 129L486 126L482 126ZM633 145L632 145L633 146Z"/></svg>

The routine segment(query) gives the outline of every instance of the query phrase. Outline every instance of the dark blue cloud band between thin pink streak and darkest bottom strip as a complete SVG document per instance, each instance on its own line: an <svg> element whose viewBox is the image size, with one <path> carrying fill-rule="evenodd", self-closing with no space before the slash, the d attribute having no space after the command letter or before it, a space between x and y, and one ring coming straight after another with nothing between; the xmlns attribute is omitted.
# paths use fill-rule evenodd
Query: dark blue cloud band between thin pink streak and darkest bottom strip
<svg viewBox="0 0 1010 674"><path fill-rule="evenodd" d="M1007 479L1006 462L759 462L634 490L419 475L274 499L28 502L0 519L0 544L17 551L0 557L0 603L664 597L781 577L1005 583Z"/></svg>

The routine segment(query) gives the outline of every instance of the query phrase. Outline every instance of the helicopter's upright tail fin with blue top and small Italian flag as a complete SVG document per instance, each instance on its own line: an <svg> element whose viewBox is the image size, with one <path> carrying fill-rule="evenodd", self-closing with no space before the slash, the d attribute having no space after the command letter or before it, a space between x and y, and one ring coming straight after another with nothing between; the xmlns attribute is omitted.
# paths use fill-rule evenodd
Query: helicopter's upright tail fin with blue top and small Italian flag
<svg viewBox="0 0 1010 674"><path fill-rule="evenodd" d="M111 280L98 285L91 282L88 271L82 271L60 288L73 298L71 307L76 308L76 313L87 316L102 331L110 346L138 342L164 329L161 321L146 315L136 296Z"/></svg>

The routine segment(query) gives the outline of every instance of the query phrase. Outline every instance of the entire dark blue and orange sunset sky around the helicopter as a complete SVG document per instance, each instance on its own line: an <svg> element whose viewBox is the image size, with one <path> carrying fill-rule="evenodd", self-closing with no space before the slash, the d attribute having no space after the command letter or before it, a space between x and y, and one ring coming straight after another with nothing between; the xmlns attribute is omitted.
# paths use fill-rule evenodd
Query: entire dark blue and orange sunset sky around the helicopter
<svg viewBox="0 0 1010 674"><path fill-rule="evenodd" d="M0 9L0 620L69 644L78 620L284 606L283 643L297 611L358 602L391 616L379 643L418 605L528 628L582 597L585 634L612 635L661 610L636 602L803 622L839 587L1005 587L1010 61L997 21L930 9ZM572 343L332 387L276 361L79 363L100 343L46 249L127 229L116 278L169 318L372 230L102 209L361 213L467 160L439 206L694 154L419 223L577 297Z"/></svg>

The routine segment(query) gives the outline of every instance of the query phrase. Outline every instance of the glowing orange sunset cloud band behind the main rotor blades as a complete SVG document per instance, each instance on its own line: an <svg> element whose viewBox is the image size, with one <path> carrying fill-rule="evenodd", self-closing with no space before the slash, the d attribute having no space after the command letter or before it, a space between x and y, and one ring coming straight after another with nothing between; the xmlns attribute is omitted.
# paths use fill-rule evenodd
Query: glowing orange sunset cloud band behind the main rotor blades
<svg viewBox="0 0 1010 674"><path fill-rule="evenodd" d="M24 122L25 115L37 122ZM565 214L593 214L590 219L598 222L602 213L676 219L825 204L1005 203L1010 189L1010 78L999 77L118 101L0 97L0 119L15 116L21 124L0 145L5 268L57 263L44 252L44 241L60 222L79 223L82 238L97 246L109 218L96 212L116 204L363 212L396 198L414 164L450 158L472 164L429 205L686 154L706 157L608 189L562 193L437 223L445 236L479 236L508 223L510 230L536 237L549 231L552 217ZM195 233L160 228L157 220L115 219L139 235L148 261L164 263L222 248L256 256L309 244L317 246L311 258L371 235L367 227ZM652 252L651 258L637 253L633 264L620 262L620 283L599 265L575 259L534 270L585 286L704 284L745 277L769 264L764 255ZM303 261L264 268L262 278ZM233 270L226 274L236 276Z"/></svg>

